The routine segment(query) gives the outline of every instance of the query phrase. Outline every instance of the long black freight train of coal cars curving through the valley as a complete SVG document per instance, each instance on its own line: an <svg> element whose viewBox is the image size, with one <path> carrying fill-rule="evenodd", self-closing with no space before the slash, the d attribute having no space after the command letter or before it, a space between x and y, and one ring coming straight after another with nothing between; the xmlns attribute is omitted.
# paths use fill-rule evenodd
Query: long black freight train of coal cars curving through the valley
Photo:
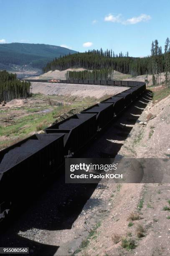
<svg viewBox="0 0 170 256"><path fill-rule="evenodd" d="M36 81L36 80L35 80ZM32 81L34 82L34 81ZM37 82L37 81L36 81ZM45 82L43 80L43 82ZM60 80L130 88L0 151L0 221L30 189L41 186L146 90L144 82Z"/></svg>

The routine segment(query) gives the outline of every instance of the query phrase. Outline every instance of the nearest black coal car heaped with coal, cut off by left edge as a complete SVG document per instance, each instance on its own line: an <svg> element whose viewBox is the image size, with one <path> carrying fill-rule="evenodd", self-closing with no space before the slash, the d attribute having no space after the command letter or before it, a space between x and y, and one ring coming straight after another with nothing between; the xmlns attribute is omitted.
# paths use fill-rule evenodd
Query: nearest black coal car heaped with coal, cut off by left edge
<svg viewBox="0 0 170 256"><path fill-rule="evenodd" d="M63 134L36 134L0 151L0 220L63 164Z"/></svg>

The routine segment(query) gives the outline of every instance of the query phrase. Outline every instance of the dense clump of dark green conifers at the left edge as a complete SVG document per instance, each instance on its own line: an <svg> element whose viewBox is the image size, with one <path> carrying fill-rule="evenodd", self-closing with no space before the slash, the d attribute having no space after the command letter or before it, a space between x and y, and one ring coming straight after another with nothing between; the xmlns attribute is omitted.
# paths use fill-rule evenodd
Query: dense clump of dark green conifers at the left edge
<svg viewBox="0 0 170 256"><path fill-rule="evenodd" d="M0 102L30 96L30 82L20 81L16 74L0 72Z"/></svg>

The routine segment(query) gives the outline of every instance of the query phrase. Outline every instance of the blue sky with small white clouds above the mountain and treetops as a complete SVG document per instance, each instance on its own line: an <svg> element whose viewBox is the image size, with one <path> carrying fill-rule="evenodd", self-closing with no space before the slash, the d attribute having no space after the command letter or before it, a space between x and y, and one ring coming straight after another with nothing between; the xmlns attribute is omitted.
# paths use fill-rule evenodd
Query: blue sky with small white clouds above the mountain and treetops
<svg viewBox="0 0 170 256"><path fill-rule="evenodd" d="M170 37L170 0L0 0L0 43L150 54Z"/></svg>

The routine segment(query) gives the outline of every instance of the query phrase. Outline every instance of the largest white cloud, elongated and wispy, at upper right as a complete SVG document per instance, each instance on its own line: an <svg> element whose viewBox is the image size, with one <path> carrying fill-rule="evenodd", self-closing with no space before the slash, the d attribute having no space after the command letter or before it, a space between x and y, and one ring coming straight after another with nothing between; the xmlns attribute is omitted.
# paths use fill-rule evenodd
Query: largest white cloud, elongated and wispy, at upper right
<svg viewBox="0 0 170 256"><path fill-rule="evenodd" d="M137 24L139 22L145 22L145 21L150 20L150 19L151 19L150 15L141 14L140 16L132 17L130 19L124 20L122 18L122 14L118 14L117 16L114 16L110 13L104 18L104 21L110 21L110 22L114 22L114 23L121 23L123 25L128 25L128 24L132 25L132 24Z"/></svg>

